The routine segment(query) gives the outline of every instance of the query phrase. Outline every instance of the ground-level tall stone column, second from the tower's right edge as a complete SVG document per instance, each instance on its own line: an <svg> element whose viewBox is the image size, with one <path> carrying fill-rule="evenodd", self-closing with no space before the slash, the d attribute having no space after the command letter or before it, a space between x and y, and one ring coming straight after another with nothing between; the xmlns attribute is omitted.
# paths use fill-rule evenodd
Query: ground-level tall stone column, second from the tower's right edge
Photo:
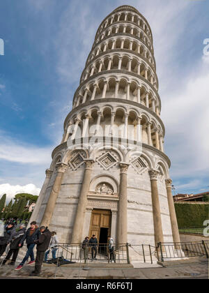
<svg viewBox="0 0 209 293"><path fill-rule="evenodd" d="M153 202L153 223L154 223L154 232L155 232L155 246L157 243L164 242L163 232L162 232L162 220L160 214L160 201L157 189L157 177L160 175L160 172L157 170L150 170L150 183L151 183L151 195Z"/></svg>

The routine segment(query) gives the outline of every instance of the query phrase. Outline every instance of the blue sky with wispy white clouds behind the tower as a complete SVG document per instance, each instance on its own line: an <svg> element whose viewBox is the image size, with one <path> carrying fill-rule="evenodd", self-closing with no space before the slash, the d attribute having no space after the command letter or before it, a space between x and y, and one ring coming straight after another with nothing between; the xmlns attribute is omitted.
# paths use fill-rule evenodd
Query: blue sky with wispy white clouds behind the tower
<svg viewBox="0 0 209 293"><path fill-rule="evenodd" d="M209 1L0 1L0 195L38 194L95 32L124 4L137 8L153 32L176 193L209 189Z"/></svg>

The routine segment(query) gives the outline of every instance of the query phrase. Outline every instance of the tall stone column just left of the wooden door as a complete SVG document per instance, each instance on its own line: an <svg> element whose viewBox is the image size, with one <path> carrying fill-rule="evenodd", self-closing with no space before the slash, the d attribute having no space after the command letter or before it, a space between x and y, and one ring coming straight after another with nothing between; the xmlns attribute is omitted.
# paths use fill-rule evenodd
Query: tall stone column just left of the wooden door
<svg viewBox="0 0 209 293"><path fill-rule="evenodd" d="M77 212L75 215L75 223L72 230L71 243L77 244L82 242L82 232L84 227L84 218L87 206L87 195L89 190L89 185L91 181L91 172L93 168L94 160L85 159L86 168L84 170L84 179L82 183L82 188L79 195L79 202L77 204Z"/></svg>

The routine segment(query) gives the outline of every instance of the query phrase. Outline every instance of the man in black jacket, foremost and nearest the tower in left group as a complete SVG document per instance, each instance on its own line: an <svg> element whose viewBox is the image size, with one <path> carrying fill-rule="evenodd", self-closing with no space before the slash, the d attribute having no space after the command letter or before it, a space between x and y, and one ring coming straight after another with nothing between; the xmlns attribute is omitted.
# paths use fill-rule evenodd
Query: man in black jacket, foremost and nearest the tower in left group
<svg viewBox="0 0 209 293"><path fill-rule="evenodd" d="M38 276L40 275L42 262L44 260L45 252L49 248L49 243L52 237L52 233L47 229L47 227L42 226L40 227L40 235L37 243L37 253L36 253L36 264L35 264L35 271L32 271L30 276Z"/></svg>

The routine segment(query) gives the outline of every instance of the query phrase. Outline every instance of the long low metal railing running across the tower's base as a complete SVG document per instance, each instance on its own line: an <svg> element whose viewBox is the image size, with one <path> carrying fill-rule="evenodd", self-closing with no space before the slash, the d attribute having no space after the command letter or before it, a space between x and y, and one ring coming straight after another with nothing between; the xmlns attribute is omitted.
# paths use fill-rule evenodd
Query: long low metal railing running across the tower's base
<svg viewBox="0 0 209 293"><path fill-rule="evenodd" d="M26 248L26 247L25 247ZM9 245L1 256L0 266L8 253ZM36 251L36 250L35 250ZM34 251L34 253L35 253ZM50 253L51 255L51 253ZM109 248L107 243L91 244L82 243L57 244L56 258L49 258L49 263L57 266L61 260L88 264L91 262L118 264L130 264L130 255L132 261L147 262L164 262L167 260L181 260L191 257L207 257L209 255L209 240L196 242L180 243L158 243L158 246L148 244L132 245L130 243L117 244Z"/></svg>

